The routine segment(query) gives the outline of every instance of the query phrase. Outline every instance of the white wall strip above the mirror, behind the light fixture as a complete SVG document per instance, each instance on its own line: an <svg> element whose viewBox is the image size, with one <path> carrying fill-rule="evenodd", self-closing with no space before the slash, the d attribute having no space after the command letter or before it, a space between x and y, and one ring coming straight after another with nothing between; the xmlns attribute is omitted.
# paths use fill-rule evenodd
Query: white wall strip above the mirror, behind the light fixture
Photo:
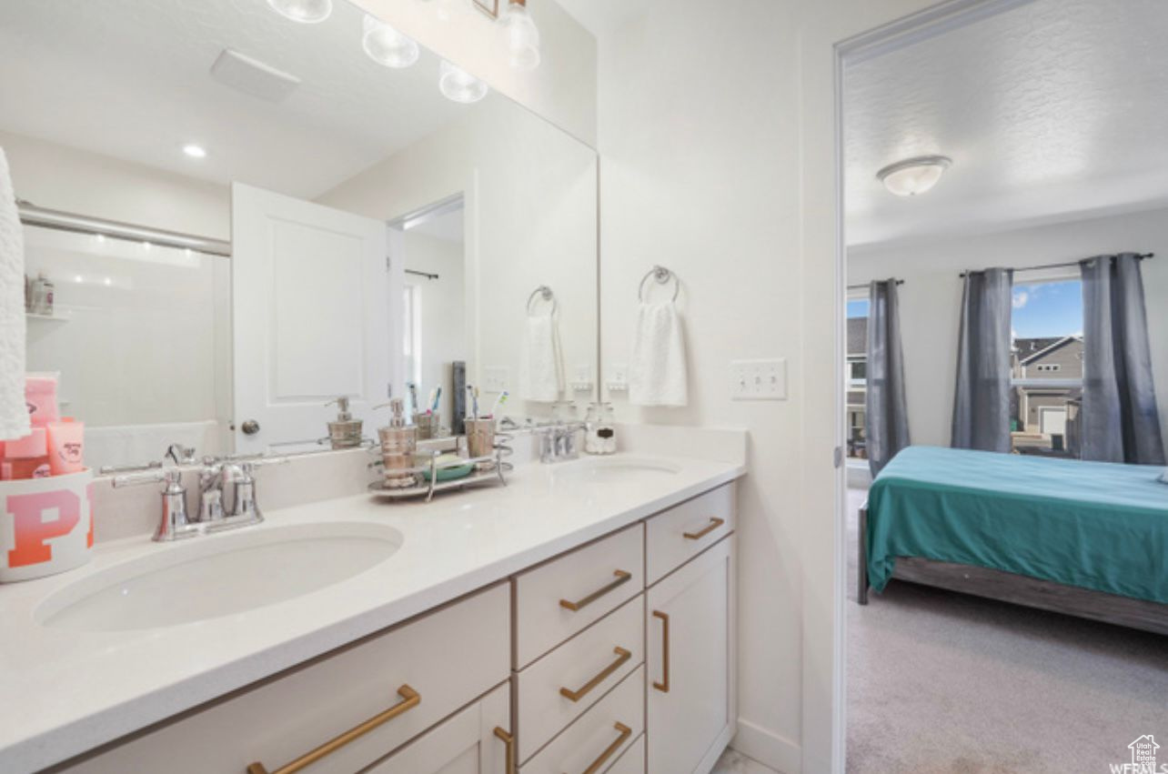
<svg viewBox="0 0 1168 774"><path fill-rule="evenodd" d="M489 0L488 0L489 1ZM589 145L596 145L596 39L555 0L528 0L540 28L542 62L534 72L517 72L507 62L498 27L478 12L457 6L449 21L439 21L438 0L354 0L454 64L464 68L536 114ZM507 0L499 0L500 11Z"/></svg>

